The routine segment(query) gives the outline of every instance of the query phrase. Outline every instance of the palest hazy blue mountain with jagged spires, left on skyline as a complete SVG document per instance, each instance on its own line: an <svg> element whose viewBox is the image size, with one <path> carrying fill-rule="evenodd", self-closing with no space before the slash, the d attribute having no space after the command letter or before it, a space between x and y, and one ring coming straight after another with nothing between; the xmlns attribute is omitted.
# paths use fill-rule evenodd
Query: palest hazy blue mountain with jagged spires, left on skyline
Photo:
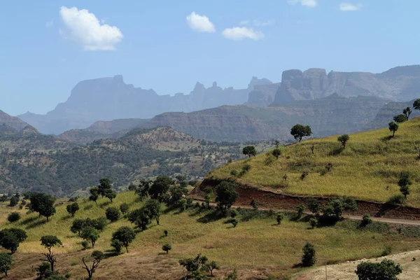
<svg viewBox="0 0 420 280"><path fill-rule="evenodd" d="M18 116L45 134L85 128L98 120L122 118L152 118L164 112L191 112L221 105L244 104L254 85L271 83L253 77L248 88L221 88L214 82L205 88L197 83L190 94L158 95L154 90L127 85L123 76L83 80L78 83L66 102L46 115L25 113Z"/></svg>

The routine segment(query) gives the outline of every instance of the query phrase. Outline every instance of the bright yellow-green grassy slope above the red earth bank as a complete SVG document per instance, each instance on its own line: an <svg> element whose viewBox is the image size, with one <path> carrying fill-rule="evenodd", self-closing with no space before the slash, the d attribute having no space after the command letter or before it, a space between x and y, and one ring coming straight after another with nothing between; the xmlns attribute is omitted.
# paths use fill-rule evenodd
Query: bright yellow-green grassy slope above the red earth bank
<svg viewBox="0 0 420 280"><path fill-rule="evenodd" d="M265 162L269 155L260 154L251 160L240 160L214 170L208 175L214 179L236 179L257 188L266 188L279 193L295 195L347 195L363 200L385 202L399 193L398 175L409 172L413 185L408 204L420 207L420 160L416 148L420 148L420 118L400 125L395 138L388 129L351 134L344 151L337 136L310 139L300 144L283 147L279 160ZM310 147L314 145L312 155ZM336 153L336 155L332 155ZM242 177L239 174L244 164L251 170ZM332 163L332 171L321 176L319 172ZM309 175L301 180L302 172ZM287 181L283 180L287 174Z"/></svg>

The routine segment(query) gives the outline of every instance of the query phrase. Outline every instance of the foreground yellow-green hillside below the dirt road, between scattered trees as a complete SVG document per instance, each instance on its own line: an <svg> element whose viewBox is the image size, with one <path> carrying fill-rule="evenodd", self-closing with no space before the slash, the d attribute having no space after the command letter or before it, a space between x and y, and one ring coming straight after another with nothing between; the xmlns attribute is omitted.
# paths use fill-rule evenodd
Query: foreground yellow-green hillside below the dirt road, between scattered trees
<svg viewBox="0 0 420 280"><path fill-rule="evenodd" d="M70 231L75 219L99 218L105 216L107 207L119 207L122 203L130 205L130 211L144 206L146 200L139 200L134 192L118 193L112 204L106 198L99 198L98 204L80 198L80 210L72 218L66 212L66 200L58 201L57 212L45 221L36 213L26 213L26 209L7 207L0 203L3 216L18 211L22 219L15 223L1 221L1 228L20 228L27 232L27 239L13 254L15 260L8 272L8 279L34 279L39 258L46 249L41 246L43 235L55 235L62 246L52 248L57 256L56 269L62 274L71 274L71 279L86 276L82 268L83 257L93 250L106 253L94 273L94 279L181 279L183 268L179 265L182 258L193 258L202 253L218 263L220 269L214 272L214 279L226 279L234 268L239 279L284 279L299 267L302 246L311 241L316 248L316 265L328 262L343 262L359 258L372 258L381 255L386 246L393 252L418 248L420 239L416 227L401 227L398 233L392 227L380 223L360 229L358 223L342 221L335 227L308 229L305 221L295 221L293 214L284 213L281 225L276 225L275 216L268 211L239 210L239 225L232 228L230 218L218 218L212 210L194 207L186 211L166 209L162 205L160 225L152 221L148 229L135 228L137 235L128 247L130 253L114 255L111 236L121 226L134 228L134 225L121 217L116 222L106 221L106 227L99 232L94 249L82 249L81 239ZM275 212L274 212L275 213ZM164 230L169 231L165 237ZM279 238L281 237L281 238ZM333 242L332 242L333 240ZM162 245L172 243L169 254L162 251ZM244 246L245 244L245 246ZM2 249L1 251L6 252ZM279 253L280 252L280 253Z"/></svg>

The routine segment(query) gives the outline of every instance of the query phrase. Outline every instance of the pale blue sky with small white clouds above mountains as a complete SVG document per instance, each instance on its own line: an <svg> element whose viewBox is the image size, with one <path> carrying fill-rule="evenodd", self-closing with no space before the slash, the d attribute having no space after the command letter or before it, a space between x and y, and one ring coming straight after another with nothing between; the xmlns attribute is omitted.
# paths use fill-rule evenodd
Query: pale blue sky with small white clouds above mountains
<svg viewBox="0 0 420 280"><path fill-rule="evenodd" d="M418 0L2 0L0 109L46 113L81 80L158 94L287 69L420 64Z"/></svg>

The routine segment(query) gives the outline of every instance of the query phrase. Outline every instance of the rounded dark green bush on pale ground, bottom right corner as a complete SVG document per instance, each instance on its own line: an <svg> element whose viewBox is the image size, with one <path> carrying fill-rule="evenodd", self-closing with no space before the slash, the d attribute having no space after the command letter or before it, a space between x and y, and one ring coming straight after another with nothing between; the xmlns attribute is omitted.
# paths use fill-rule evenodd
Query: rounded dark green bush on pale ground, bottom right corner
<svg viewBox="0 0 420 280"><path fill-rule="evenodd" d="M381 262L361 262L356 269L359 280L398 280L402 267L393 260Z"/></svg>

